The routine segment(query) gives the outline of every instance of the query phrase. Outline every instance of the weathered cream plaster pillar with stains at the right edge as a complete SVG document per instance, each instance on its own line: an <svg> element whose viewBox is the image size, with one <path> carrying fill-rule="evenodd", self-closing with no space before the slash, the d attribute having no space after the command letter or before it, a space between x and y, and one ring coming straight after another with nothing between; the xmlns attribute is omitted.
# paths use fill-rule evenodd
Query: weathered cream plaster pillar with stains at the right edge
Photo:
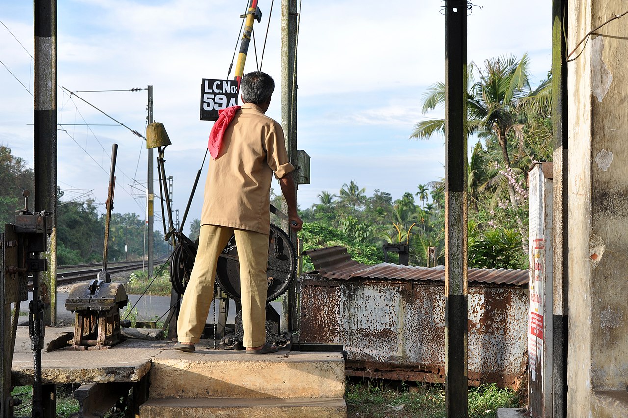
<svg viewBox="0 0 628 418"><path fill-rule="evenodd" d="M625 9L625 0L570 2L568 50ZM625 20L596 29L568 64L569 417L625 416L627 410Z"/></svg>

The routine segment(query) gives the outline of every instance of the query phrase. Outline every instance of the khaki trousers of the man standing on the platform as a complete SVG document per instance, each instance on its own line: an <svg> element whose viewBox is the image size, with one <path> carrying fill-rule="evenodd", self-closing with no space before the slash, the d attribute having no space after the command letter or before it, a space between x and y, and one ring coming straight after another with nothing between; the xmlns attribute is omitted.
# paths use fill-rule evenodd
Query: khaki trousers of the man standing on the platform
<svg viewBox="0 0 628 418"><path fill-rule="evenodd" d="M214 225L200 227L197 256L176 322L176 333L181 343L198 343L205 328L205 319L214 297L218 257L231 235L236 236L240 259L242 345L259 347L266 343L268 234Z"/></svg>

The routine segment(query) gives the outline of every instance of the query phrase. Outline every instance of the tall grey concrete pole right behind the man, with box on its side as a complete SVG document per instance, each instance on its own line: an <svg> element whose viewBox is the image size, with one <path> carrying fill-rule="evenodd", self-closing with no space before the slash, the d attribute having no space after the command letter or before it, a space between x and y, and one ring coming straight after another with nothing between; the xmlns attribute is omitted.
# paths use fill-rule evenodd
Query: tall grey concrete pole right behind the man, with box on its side
<svg viewBox="0 0 628 418"><path fill-rule="evenodd" d="M296 0L281 0L281 127L283 128L288 158L297 166L296 156ZM296 173L293 173L295 188L298 189ZM295 196L297 195L295 191ZM281 210L288 213L284 202ZM281 221L281 228L288 232L290 240L298 249L296 233L288 225L288 220ZM283 299L284 331L296 331L298 314L296 312L296 281L288 289L288 296Z"/></svg>

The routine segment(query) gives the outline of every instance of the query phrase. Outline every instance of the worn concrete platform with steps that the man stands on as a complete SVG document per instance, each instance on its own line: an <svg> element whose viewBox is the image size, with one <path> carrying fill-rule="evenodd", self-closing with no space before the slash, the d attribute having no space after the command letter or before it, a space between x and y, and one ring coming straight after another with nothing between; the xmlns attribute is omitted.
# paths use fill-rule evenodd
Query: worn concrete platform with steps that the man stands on
<svg viewBox="0 0 628 418"><path fill-rule="evenodd" d="M154 330L138 331L143 338ZM46 328L42 382L145 383L143 377L148 377L148 401L139 409L141 417L347 415L342 353L249 355L203 349L202 343L195 353L184 353L173 350L172 341L136 338L108 350L58 350L72 333L73 328ZM12 373L14 385L33 383L33 351L26 327L18 327Z"/></svg>

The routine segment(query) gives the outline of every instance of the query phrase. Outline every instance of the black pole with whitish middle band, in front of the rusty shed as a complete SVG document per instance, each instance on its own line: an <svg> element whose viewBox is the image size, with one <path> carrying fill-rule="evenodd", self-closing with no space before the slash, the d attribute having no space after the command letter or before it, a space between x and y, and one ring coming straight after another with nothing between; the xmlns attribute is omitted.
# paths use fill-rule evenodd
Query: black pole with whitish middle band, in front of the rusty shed
<svg viewBox="0 0 628 418"><path fill-rule="evenodd" d="M445 412L467 417L467 0L445 2Z"/></svg>

